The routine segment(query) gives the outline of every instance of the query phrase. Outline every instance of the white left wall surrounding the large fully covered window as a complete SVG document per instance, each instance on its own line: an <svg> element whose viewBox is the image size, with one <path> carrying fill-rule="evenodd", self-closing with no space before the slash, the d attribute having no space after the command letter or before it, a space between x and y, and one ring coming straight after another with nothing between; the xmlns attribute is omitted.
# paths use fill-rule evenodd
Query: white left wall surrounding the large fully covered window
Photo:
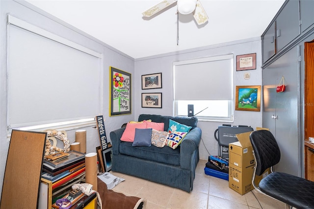
<svg viewBox="0 0 314 209"><path fill-rule="evenodd" d="M29 7L29 8L28 8ZM5 170L6 157L9 147L9 138L7 137L7 27L6 16L11 14L21 20L26 21L32 25L41 27L56 35L66 38L70 41L78 43L86 48L89 48L95 52L103 53L103 72L102 79L103 85L103 116L105 119L105 131L107 137L109 137L110 131L116 130L121 127L122 124L134 119L134 114L109 117L109 66L116 67L118 69L127 71L132 75L132 82L134 82L134 59L130 56L119 52L105 43L92 38L91 36L82 32L78 33L78 30L60 20L52 17L51 15L39 10L33 5L21 1L21 3L13 0L0 0L0 188L2 188L3 176ZM45 16L44 16L45 15ZM60 24L61 23L61 24ZM82 35L83 34L83 35ZM69 78L71 79L71 78ZM87 82L93 82L92 80ZM66 85L66 83L64 84ZM131 89L133 94L134 89ZM27 92L25 92L27 94ZM66 93L66 92L65 92ZM75 98L69 95L69 100ZM134 97L132 97L132 104L134 105ZM34 112L33 114L36 114ZM87 145L86 152L96 152L96 147L100 145L98 132L91 127L84 128L87 133ZM67 131L68 138L72 143L75 140L75 129ZM30 150L31 151L31 150ZM31 162L30 162L31 164ZM31 169L31 168L30 168ZM17 170L18 171L18 170ZM21 171L20 171L21 172ZM2 190L2 189L1 189ZM0 192L1 192L0 190Z"/></svg>

